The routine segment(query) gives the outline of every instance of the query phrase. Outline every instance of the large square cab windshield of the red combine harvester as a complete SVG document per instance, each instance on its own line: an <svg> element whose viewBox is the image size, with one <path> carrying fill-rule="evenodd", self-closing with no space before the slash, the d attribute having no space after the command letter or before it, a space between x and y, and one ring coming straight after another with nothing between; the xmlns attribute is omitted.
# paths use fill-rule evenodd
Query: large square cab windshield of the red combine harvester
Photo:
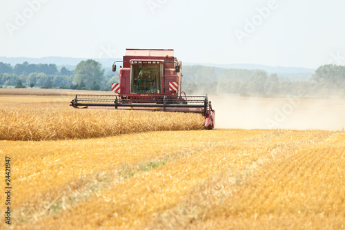
<svg viewBox="0 0 345 230"><path fill-rule="evenodd" d="M132 93L159 93L159 64L132 64L131 82Z"/></svg>

